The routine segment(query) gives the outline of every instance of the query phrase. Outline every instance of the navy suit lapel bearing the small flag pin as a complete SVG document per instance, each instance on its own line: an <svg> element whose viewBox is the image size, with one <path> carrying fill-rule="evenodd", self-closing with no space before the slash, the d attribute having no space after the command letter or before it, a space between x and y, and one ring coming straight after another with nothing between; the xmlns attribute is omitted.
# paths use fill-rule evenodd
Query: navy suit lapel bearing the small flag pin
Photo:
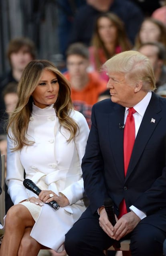
<svg viewBox="0 0 166 256"><path fill-rule="evenodd" d="M138 134L136 136L132 156L130 159L130 163L129 163L129 167L126 175L126 180L134 170L135 166L137 165L148 140L152 136L154 130L156 129L161 119L160 114L158 114L160 111L161 111L161 108L159 105L159 98L154 93L152 93L152 98L146 109L146 112L142 119L142 123L138 130Z"/></svg>

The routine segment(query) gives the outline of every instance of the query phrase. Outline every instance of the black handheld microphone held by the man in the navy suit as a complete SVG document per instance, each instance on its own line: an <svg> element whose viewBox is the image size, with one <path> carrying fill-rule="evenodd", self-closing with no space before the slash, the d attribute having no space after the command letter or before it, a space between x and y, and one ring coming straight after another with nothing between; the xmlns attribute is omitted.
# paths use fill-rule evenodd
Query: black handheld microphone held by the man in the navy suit
<svg viewBox="0 0 166 256"><path fill-rule="evenodd" d="M108 219L111 222L112 226L115 226L116 224L116 219L115 219L115 213L114 213L114 208L113 208L113 201L111 198L107 198L104 200L104 207L105 211L108 215ZM115 248L120 248L120 242L115 240L115 243L113 244Z"/></svg>

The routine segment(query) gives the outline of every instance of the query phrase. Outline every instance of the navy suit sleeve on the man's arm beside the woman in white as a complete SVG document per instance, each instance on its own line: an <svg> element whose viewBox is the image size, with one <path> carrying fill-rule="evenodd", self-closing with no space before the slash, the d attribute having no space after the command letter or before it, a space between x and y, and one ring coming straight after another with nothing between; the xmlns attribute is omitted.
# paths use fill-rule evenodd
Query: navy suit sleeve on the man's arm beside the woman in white
<svg viewBox="0 0 166 256"><path fill-rule="evenodd" d="M92 213L95 213L103 205L108 197L103 178L104 163L100 150L97 122L95 118L95 106L92 108L92 126L87 141L85 156L82 162L85 193L90 201ZM99 120L99 122L102 119ZM104 130L103 130L104 132Z"/></svg>

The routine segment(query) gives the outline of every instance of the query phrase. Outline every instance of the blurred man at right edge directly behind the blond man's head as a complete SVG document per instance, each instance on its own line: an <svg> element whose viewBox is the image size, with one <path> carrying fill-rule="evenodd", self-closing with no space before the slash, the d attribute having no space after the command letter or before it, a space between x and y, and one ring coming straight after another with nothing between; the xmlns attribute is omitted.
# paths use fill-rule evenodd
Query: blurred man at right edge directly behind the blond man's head
<svg viewBox="0 0 166 256"><path fill-rule="evenodd" d="M156 78L156 92L166 89L162 86L166 83L166 49L162 43L147 42L140 46L138 51L147 56L153 66ZM166 86L165 86L166 87Z"/></svg>

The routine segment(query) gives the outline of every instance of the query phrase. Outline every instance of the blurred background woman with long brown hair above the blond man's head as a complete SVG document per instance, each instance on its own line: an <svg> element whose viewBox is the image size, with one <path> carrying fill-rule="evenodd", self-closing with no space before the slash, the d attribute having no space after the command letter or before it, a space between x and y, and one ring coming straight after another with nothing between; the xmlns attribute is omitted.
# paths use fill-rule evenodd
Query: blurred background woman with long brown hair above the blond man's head
<svg viewBox="0 0 166 256"><path fill-rule="evenodd" d="M93 70L99 71L101 65L116 53L131 49L121 19L111 13L103 13L97 17L89 47L90 63ZM108 76L101 71L101 78L108 81Z"/></svg>

